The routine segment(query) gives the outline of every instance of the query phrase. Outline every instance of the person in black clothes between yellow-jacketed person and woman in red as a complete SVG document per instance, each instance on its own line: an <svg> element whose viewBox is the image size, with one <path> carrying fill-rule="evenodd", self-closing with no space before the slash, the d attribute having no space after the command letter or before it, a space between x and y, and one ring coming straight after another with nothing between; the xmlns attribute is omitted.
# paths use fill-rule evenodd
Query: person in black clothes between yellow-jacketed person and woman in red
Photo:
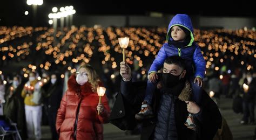
<svg viewBox="0 0 256 140"><path fill-rule="evenodd" d="M58 134L55 128L57 111L60 101L62 100L62 81L57 74L51 74L51 80L44 87L44 107L51 127L52 139L58 139Z"/></svg>

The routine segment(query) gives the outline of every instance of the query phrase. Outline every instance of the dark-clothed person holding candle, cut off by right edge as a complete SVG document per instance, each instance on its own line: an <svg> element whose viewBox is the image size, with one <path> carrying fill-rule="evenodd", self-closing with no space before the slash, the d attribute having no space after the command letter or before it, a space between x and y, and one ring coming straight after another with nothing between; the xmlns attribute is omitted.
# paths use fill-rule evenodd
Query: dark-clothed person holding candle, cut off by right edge
<svg viewBox="0 0 256 140"><path fill-rule="evenodd" d="M255 123L254 118L254 105L255 105L255 94L256 94L256 73L253 75L248 72L246 78L244 79L244 84L242 85L242 91L244 93L242 110L244 116L242 116L241 124Z"/></svg>

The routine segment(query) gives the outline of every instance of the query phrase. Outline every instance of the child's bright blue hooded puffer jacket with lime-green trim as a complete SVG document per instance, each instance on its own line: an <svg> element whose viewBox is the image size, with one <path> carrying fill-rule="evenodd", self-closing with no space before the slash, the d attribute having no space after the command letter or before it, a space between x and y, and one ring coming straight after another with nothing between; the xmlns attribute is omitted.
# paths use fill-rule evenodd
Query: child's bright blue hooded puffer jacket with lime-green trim
<svg viewBox="0 0 256 140"><path fill-rule="evenodd" d="M166 39L171 41L173 40L170 37L171 28L177 25L183 26L188 31L190 31L190 43L187 46L181 48L165 43L163 47L160 48L156 59L154 59L153 64L150 67L149 74L152 72L157 72L161 67L163 67L166 58L173 55L178 55L179 57L185 59L186 69L189 76L199 76L203 79L206 70L206 62L204 60L203 54L201 53L200 47L196 43L194 43L193 26L191 23L191 19L188 15L177 14L172 18L168 27ZM193 66L195 67L195 69Z"/></svg>

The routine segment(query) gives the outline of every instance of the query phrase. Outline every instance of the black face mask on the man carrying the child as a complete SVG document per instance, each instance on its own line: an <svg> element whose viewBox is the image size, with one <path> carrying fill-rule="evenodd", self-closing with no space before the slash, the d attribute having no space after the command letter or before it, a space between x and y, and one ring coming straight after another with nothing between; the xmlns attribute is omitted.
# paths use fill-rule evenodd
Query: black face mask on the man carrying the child
<svg viewBox="0 0 256 140"><path fill-rule="evenodd" d="M167 88L172 88L180 82L179 76L182 74L181 72L179 75L173 75L171 73L162 73L162 82L163 86Z"/></svg>

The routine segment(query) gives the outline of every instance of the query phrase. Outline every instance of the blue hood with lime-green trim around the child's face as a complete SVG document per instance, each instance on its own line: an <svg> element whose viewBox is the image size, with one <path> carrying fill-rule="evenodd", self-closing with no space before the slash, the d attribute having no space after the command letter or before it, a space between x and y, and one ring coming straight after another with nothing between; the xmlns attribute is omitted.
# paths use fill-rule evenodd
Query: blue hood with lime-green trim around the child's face
<svg viewBox="0 0 256 140"><path fill-rule="evenodd" d="M193 35L193 25L192 25L192 22L191 22L191 19L188 15L186 14L177 14L175 15L171 22L169 23L169 26L168 26L168 30L167 30L167 37L166 37L166 40L173 40L171 38L171 28L173 26L183 26L185 27L188 31L190 31L190 36L191 36L191 40L190 40L190 43L187 45L187 46L191 46L193 41L194 41L194 35Z"/></svg>

